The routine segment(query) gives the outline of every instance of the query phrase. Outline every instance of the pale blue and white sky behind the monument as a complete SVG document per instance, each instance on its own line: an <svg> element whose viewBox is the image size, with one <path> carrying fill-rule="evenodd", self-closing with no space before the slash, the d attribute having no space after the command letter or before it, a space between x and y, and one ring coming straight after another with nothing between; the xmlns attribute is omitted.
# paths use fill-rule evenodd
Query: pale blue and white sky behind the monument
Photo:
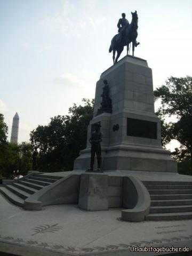
<svg viewBox="0 0 192 256"><path fill-rule="evenodd" d="M153 70L154 89L167 77L192 75L191 0L0 0L0 113L9 140L16 111L22 142L51 117L94 98L95 83L113 64L108 49L118 19L125 12L131 22L135 10L135 56Z"/></svg>

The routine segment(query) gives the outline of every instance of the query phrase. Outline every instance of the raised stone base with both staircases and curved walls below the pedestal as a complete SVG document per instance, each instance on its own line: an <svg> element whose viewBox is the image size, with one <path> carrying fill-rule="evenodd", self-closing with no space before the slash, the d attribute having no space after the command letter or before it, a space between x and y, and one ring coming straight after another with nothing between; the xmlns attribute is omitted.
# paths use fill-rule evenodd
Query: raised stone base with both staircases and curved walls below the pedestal
<svg viewBox="0 0 192 256"><path fill-rule="evenodd" d="M178 173L29 173L3 184L0 192L25 210L76 204L86 211L124 207L121 218L126 221L192 219L192 177Z"/></svg>

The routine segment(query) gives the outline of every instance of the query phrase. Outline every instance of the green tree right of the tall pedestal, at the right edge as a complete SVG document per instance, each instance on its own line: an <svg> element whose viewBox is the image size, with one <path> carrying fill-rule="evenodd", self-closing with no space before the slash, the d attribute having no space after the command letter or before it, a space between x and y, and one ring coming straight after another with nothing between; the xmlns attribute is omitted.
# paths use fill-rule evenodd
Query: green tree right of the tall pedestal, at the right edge
<svg viewBox="0 0 192 256"><path fill-rule="evenodd" d="M173 152L180 163L190 159L192 173L192 77L170 77L165 85L154 91L155 99L161 99L162 107L157 114L163 118L163 140L176 139L181 146ZM177 122L165 122L166 116L174 115Z"/></svg>

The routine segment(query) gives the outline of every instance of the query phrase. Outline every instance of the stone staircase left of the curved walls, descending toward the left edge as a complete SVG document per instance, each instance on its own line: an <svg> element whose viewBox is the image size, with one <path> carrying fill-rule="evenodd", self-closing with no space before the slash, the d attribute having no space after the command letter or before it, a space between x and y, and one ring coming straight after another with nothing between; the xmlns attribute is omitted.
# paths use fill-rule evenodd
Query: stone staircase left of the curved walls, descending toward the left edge
<svg viewBox="0 0 192 256"><path fill-rule="evenodd" d="M23 207L25 199L61 178L62 177L33 173L26 175L26 177L20 180L15 180L9 185L0 187L0 193L13 204Z"/></svg>

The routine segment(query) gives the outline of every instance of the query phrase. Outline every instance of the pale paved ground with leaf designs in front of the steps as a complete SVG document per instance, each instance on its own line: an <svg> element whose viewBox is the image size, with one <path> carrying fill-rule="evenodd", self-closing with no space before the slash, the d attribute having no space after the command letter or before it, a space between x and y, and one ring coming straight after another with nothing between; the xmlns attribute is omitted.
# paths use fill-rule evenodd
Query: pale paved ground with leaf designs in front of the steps
<svg viewBox="0 0 192 256"><path fill-rule="evenodd" d="M31 212L2 195L0 205L0 255L154 256L163 254L131 252L130 246L192 249L192 220L124 222L119 220L122 209L86 212L77 205Z"/></svg>

